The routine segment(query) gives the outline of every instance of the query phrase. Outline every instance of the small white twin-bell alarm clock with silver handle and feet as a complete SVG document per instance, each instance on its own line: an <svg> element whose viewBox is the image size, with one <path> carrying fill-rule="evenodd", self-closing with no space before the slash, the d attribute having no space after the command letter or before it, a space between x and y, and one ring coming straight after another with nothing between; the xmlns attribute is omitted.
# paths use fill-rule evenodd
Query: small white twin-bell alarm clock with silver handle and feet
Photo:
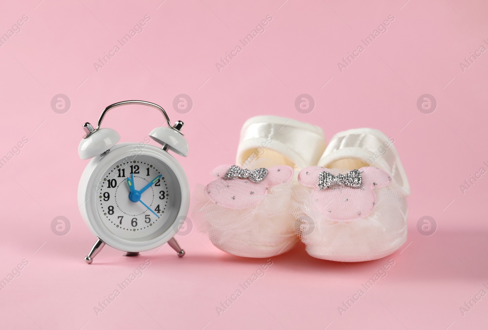
<svg viewBox="0 0 488 330"><path fill-rule="evenodd" d="M160 147L122 143L112 128L101 128L105 114L118 106L142 104L160 110L167 127L156 127L149 136ZM130 121L132 124L132 121ZM182 166L170 153L186 157L188 143L183 122L171 125L164 109L145 101L123 101L107 106L96 128L83 124L86 133L78 148L82 160L90 159L78 187L81 216L97 241L84 258L91 264L105 244L134 256L165 243L179 257L185 251L175 234L183 225L190 203L190 188Z"/></svg>

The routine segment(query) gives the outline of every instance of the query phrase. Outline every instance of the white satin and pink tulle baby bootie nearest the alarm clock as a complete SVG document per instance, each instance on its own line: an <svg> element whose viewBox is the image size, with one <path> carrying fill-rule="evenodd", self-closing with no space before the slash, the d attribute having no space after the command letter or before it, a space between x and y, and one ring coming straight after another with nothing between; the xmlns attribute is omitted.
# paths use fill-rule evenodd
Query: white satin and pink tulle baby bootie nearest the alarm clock
<svg viewBox="0 0 488 330"><path fill-rule="evenodd" d="M259 116L241 130L236 164L212 171L217 177L198 185L193 219L221 250L243 257L285 253L300 241L291 201L298 171L317 164L325 150L318 126Z"/></svg>

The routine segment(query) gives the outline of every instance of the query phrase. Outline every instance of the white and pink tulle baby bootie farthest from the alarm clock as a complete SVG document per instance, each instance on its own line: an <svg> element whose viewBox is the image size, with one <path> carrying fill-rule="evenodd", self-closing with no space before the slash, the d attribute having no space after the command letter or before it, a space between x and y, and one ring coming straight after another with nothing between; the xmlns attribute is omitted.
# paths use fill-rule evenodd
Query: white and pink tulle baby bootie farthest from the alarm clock
<svg viewBox="0 0 488 330"><path fill-rule="evenodd" d="M355 262L387 256L407 240L407 176L394 140L351 129L298 176L295 229L315 258Z"/></svg>

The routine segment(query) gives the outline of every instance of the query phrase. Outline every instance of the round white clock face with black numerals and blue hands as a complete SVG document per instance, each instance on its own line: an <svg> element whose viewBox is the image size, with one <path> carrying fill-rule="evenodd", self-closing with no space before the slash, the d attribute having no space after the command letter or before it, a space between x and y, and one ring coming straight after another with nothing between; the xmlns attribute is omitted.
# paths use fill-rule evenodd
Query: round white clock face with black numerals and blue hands
<svg viewBox="0 0 488 330"><path fill-rule="evenodd" d="M96 199L100 219L110 232L143 241L160 235L174 223L181 190L173 171L161 160L130 156L105 171Z"/></svg>

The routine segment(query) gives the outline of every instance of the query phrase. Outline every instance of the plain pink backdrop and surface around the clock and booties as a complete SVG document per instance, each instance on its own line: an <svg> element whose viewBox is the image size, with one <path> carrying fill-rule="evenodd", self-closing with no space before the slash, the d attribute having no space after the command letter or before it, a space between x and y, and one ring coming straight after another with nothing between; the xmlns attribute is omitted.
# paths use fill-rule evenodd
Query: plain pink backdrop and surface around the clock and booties
<svg viewBox="0 0 488 330"><path fill-rule="evenodd" d="M460 185L488 169L488 53L465 72L459 65L486 45L486 3L39 1L0 6L0 35L28 17L0 48L0 157L28 139L0 169L0 279L28 261L0 291L1 329L486 329L488 296L465 316L460 307L488 292L488 178L464 194ZM97 72L93 63L145 15L142 33ZM267 15L265 32L219 72L215 63ZM389 15L387 32L341 73L337 63ZM64 114L50 105L60 93L71 100ZM194 103L187 114L172 106L181 93ZM309 114L294 106L303 93L316 103ZM426 93L438 103L431 114L416 106ZM265 261L226 254L195 228L177 236L182 259L167 246L136 258L105 247L87 266L95 237L76 197L87 164L77 152L81 124L130 99L158 103L185 123L190 154L178 159L192 189L234 162L251 116L318 124L327 140L349 128L382 130L395 139L411 185L407 243L385 259L346 265L314 259L301 244L271 258L221 316L215 308ZM103 125L122 142L141 142L162 123L157 111L129 106ZM71 223L65 236L51 231L60 215ZM426 215L438 225L428 237L416 229ZM97 316L93 308L146 258L143 276ZM337 308L389 258L388 275L341 316Z"/></svg>

